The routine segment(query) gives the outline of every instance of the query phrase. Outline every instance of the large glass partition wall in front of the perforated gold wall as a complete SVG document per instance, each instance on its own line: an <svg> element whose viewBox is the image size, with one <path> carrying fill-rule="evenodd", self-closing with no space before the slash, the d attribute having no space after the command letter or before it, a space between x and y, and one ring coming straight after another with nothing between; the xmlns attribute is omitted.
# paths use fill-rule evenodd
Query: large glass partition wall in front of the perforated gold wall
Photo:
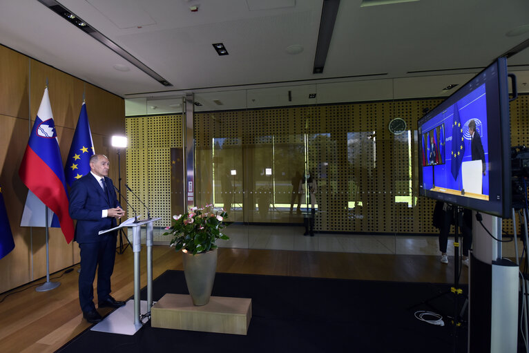
<svg viewBox="0 0 529 353"><path fill-rule="evenodd" d="M381 79L195 93L195 202L229 213L231 240L219 246L439 254L434 202L417 193L415 127L443 98L401 86ZM160 234L184 209L182 99L126 99L128 175L142 180L129 184L162 216ZM396 117L403 131L388 128Z"/></svg>

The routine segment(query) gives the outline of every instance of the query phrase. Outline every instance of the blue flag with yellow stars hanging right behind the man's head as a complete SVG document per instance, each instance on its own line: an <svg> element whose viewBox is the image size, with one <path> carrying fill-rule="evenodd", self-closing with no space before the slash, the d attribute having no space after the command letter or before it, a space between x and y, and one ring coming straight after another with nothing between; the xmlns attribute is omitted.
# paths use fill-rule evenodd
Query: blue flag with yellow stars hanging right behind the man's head
<svg viewBox="0 0 529 353"><path fill-rule="evenodd" d="M81 176L90 173L90 156L95 153L90 124L88 124L88 115L86 114L86 104L81 106L77 127L73 134L72 146L64 166L64 175L66 183L71 187L75 180Z"/></svg>

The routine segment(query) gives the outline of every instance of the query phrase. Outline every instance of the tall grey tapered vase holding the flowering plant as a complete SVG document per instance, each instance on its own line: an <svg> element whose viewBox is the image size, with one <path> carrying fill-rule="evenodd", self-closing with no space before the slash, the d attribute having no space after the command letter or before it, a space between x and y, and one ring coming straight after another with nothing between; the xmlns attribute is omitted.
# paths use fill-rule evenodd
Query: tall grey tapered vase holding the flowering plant
<svg viewBox="0 0 529 353"><path fill-rule="evenodd" d="M206 305L211 297L217 271L217 249L196 255L183 249L182 258L187 289L193 299L193 304Z"/></svg>

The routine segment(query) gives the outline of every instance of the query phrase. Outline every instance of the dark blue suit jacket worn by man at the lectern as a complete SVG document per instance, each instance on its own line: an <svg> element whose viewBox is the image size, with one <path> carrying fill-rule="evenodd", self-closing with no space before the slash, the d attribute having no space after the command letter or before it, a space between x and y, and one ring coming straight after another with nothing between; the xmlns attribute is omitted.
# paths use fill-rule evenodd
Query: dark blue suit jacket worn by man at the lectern
<svg viewBox="0 0 529 353"><path fill-rule="evenodd" d="M98 232L116 226L115 218L102 218L104 209L121 207L117 201L114 184L105 177L106 193L92 173L76 180L70 190L70 217L77 220L75 241L99 242L105 235Z"/></svg>

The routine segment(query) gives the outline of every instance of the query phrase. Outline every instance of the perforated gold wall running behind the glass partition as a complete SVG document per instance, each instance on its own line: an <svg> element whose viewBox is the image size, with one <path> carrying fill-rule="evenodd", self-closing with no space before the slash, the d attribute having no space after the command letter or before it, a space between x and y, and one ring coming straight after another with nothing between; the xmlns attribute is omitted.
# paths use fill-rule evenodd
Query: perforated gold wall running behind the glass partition
<svg viewBox="0 0 529 353"><path fill-rule="evenodd" d="M215 202L231 221L301 223L293 179L308 169L318 182L317 231L437 233L434 201L418 194L414 130L441 100L195 113L197 204ZM522 95L511 103L512 145L528 144L528 116ZM393 117L409 130L390 133ZM129 184L164 218L171 216L169 149L182 146L181 129L180 115L127 119ZM503 228L512 233L512 222Z"/></svg>

